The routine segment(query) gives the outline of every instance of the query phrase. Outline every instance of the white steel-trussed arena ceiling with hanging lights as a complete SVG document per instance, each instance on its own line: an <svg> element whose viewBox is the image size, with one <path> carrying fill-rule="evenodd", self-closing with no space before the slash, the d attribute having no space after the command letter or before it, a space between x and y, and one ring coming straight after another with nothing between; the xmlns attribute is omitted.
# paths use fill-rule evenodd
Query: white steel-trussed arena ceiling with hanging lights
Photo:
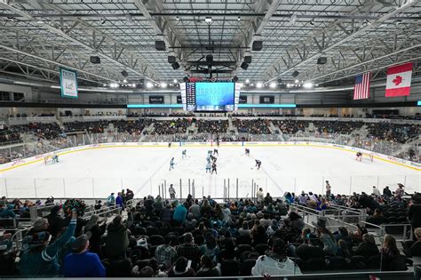
<svg viewBox="0 0 421 280"><path fill-rule="evenodd" d="M298 71L314 84L352 83L399 62L419 71L420 15L420 0L0 0L0 73L57 83L60 67L73 68L109 84L124 70L128 83L172 83L209 76L211 54L214 77L289 82Z"/></svg>

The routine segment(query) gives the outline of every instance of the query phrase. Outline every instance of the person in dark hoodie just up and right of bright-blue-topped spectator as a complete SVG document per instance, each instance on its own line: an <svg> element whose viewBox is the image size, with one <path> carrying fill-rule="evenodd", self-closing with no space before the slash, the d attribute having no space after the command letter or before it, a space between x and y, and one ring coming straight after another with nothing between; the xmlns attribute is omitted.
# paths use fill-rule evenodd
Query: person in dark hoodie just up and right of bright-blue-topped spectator
<svg viewBox="0 0 421 280"><path fill-rule="evenodd" d="M115 216L114 220L107 226L107 238L105 252L106 257L117 259L124 257L129 246L127 228L123 225L121 215Z"/></svg>

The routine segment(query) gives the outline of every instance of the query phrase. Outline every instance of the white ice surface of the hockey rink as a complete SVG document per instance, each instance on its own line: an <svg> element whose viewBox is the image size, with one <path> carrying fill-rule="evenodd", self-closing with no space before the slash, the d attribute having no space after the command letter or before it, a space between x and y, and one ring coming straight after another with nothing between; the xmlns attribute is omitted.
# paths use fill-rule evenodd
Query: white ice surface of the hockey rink
<svg viewBox="0 0 421 280"><path fill-rule="evenodd" d="M0 173L0 190L9 197L107 197L111 192L131 188L135 197L156 196L159 187L172 183L177 196L186 197L195 188L195 196L224 196L224 183L229 197L250 197L254 182L272 196L285 191L324 192L324 181L330 180L333 194L365 191L372 186L392 190L397 183L407 192L420 188L419 172L398 164L375 158L356 162L354 153L334 148L306 146L218 148L218 174L205 172L206 156L211 147L96 148L60 156L58 164L44 164L44 160ZM171 157L175 169L169 171ZM262 162L255 168L255 159ZM181 180L181 182L180 182ZM190 180L190 185L188 183ZM225 181L225 182L224 182ZM181 184L181 191L180 191ZM168 196L168 194L166 194Z"/></svg>

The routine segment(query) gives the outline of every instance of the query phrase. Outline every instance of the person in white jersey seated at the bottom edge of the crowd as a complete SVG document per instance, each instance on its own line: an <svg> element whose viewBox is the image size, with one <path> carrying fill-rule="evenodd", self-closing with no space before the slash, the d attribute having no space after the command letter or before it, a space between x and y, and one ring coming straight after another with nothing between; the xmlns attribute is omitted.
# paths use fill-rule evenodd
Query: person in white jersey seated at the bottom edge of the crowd
<svg viewBox="0 0 421 280"><path fill-rule="evenodd" d="M282 238L274 239L272 250L258 257L256 264L251 268L252 276L282 276L301 275L298 265L287 257L287 248Z"/></svg>

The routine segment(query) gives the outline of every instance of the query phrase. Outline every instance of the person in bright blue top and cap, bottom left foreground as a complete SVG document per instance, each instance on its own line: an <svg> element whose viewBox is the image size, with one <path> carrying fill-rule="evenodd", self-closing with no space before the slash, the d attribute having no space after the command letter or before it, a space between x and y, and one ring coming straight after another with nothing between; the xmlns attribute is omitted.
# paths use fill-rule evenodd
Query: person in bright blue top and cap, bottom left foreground
<svg viewBox="0 0 421 280"><path fill-rule="evenodd" d="M64 259L65 277L105 277L106 269L98 254L89 251L91 231L79 236L71 244L72 253Z"/></svg>

